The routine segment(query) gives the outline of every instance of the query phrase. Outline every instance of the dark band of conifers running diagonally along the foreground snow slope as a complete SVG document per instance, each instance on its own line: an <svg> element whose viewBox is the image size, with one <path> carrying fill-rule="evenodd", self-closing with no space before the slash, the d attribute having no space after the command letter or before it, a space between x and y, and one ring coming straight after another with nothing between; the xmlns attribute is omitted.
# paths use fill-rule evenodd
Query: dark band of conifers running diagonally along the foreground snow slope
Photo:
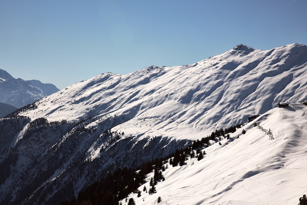
<svg viewBox="0 0 307 205"><path fill-rule="evenodd" d="M154 171L154 176L150 179L150 187L147 190L147 187L144 186L143 191L148 191L148 194L153 194L157 192L155 185L159 181L165 180L162 172L168 168L168 163L175 167L185 165L188 157L196 157L197 160L203 159L206 152L201 151L200 148L204 148L205 145L209 146L209 140L215 140L216 137L224 136L224 138L227 137L229 139L228 133L235 132L236 128L241 127L241 125L238 124L227 129L222 128L216 130L210 136L203 137L201 140L193 140L186 147L176 149L169 156L147 161L136 169L127 167L118 168L113 173L109 173L107 177L81 190L77 198L73 197L71 200L62 201L59 205L120 205L121 203L119 201L121 199L126 198L127 202L127 196L130 193L137 193L138 197L141 196L141 191L138 190L138 187L146 183L145 179L147 174L151 171ZM111 135L110 132L107 134ZM227 136L225 136L226 134ZM130 198L128 204L135 204L134 200Z"/></svg>

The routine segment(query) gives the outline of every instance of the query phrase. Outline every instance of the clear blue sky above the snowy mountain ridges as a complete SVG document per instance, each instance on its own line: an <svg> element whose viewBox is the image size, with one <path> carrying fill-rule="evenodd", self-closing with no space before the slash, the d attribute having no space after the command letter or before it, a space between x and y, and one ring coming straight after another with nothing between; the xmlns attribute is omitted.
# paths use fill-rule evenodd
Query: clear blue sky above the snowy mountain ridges
<svg viewBox="0 0 307 205"><path fill-rule="evenodd" d="M0 0L0 69L59 89L240 43L307 44L307 0Z"/></svg>

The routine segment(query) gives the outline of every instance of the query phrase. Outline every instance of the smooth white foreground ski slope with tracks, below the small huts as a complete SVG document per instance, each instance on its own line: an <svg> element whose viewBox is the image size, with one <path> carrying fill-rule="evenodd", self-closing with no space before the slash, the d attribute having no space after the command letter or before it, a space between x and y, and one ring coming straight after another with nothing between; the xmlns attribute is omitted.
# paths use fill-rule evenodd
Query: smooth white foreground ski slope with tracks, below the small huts
<svg viewBox="0 0 307 205"><path fill-rule="evenodd" d="M254 127L255 122L271 129L274 140ZM306 105L273 108L220 142L203 149L207 154L200 161L192 158L182 167L168 165L165 181L156 185L157 193L142 191L141 197L131 194L127 198L134 198L138 205L290 205L306 194ZM153 173L147 178L147 189L151 177ZM157 203L158 196L161 203Z"/></svg>

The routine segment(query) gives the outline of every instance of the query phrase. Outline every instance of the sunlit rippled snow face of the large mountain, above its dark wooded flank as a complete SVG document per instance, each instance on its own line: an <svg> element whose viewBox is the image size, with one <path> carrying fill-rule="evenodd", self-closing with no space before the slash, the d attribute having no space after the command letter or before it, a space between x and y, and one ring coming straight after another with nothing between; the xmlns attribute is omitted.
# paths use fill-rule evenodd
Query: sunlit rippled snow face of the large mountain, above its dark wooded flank
<svg viewBox="0 0 307 205"><path fill-rule="evenodd" d="M198 138L243 123L280 101L303 100L306 62L306 45L263 51L240 44L192 65L101 74L45 97L37 109L21 114L68 121L124 114L130 120L118 126L131 135L167 132Z"/></svg>

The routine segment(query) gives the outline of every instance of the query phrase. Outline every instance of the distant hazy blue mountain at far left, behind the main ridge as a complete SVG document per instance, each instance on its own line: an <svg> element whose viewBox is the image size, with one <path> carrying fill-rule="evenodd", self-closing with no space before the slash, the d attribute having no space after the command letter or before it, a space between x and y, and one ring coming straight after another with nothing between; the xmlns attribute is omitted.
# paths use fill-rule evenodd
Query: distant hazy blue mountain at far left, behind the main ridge
<svg viewBox="0 0 307 205"><path fill-rule="evenodd" d="M5 70L0 69L0 102L2 103L21 108L57 91L59 89L52 84L37 80L15 79Z"/></svg>

